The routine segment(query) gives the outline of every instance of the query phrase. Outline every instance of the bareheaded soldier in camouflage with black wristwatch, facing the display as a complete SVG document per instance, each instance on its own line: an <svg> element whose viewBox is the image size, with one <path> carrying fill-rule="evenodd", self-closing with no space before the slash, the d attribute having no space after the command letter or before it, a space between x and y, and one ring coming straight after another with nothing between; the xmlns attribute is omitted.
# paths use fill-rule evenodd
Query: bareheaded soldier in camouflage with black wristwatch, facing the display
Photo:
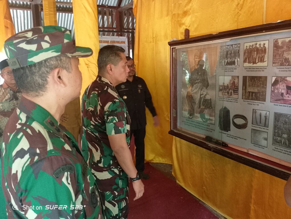
<svg viewBox="0 0 291 219"><path fill-rule="evenodd" d="M127 218L128 176L143 195L129 151L130 118L115 86L125 82L129 69L122 47L108 45L98 54L98 76L82 98L82 153L96 178L104 218Z"/></svg>

